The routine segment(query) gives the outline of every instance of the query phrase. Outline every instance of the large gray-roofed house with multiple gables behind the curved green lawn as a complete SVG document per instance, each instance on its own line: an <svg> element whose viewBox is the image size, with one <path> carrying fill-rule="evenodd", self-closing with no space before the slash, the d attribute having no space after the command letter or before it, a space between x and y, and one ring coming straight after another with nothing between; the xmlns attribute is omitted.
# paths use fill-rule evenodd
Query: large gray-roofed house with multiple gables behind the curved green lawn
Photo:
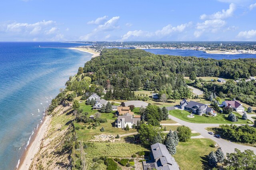
<svg viewBox="0 0 256 170"><path fill-rule="evenodd" d="M217 113L215 111L208 107L205 104L195 102L195 101L187 101L186 99L183 99L180 101L180 107L181 109L184 109L186 111L191 111L191 113L202 116L203 114L209 114L216 116Z"/></svg>

